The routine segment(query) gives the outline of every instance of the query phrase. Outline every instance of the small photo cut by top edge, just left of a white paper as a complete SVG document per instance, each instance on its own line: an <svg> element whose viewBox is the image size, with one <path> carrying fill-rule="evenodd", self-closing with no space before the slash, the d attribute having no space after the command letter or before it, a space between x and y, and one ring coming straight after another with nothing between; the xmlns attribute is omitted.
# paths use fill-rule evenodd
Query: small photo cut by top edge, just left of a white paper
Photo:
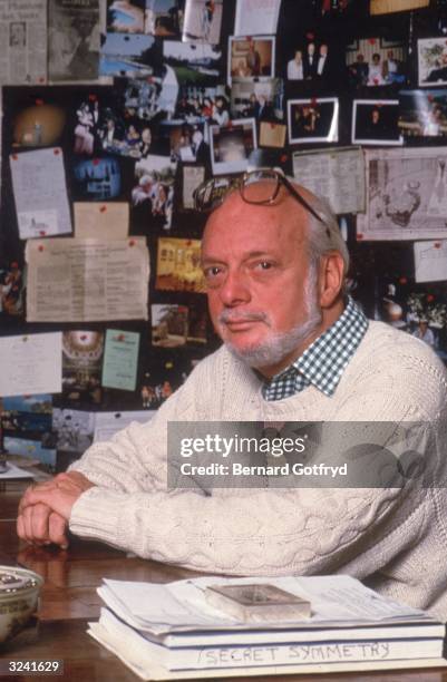
<svg viewBox="0 0 447 682"><path fill-rule="evenodd" d="M186 0L182 39L217 45L222 12L223 0Z"/></svg>

